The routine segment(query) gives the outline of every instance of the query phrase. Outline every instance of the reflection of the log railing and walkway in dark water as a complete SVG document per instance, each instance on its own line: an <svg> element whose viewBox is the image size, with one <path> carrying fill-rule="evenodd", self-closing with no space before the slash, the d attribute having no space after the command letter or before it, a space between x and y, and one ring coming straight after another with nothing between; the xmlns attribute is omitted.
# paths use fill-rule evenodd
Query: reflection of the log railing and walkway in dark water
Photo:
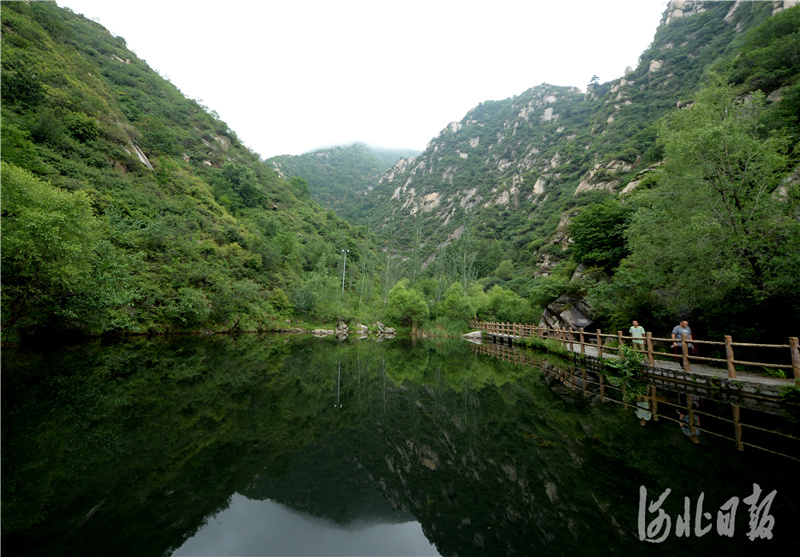
<svg viewBox="0 0 800 557"><path fill-rule="evenodd" d="M699 431L701 438L710 435L732 441L739 450L751 447L800 461L797 405L759 394L732 395L709 385L649 375L643 377L647 394L632 399L624 384L611 385L596 367L567 361L559 364L552 358L503 344L473 344L471 349L475 354L538 369L551 387L560 385L584 397L618 404L631 412L632 419L644 422L645 427L650 421L671 422L672 427L684 427L694 441L694 434Z"/></svg>

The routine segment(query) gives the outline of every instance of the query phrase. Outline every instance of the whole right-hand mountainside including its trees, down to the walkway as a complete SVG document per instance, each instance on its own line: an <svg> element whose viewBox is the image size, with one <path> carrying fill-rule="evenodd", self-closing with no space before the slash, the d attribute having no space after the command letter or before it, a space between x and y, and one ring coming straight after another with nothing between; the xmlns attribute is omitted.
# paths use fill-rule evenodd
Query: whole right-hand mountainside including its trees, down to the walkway
<svg viewBox="0 0 800 557"><path fill-rule="evenodd" d="M789 255L800 247L800 7L704 2L674 18L676 6L623 78L586 93L542 84L484 102L359 197L357 214L372 215L401 274L426 290L424 281L450 268L468 298L477 280L534 308L563 294L588 296L605 328L636 315L653 328L687 316L704 333L750 338L800 328L800 284L790 270L798 262ZM716 125L700 118L706 110L730 119L716 136L690 137L692 126ZM683 119L693 124L678 125ZM705 180L711 163L695 156L726 141L751 147L714 164L761 161L729 173L735 191ZM669 189L679 181L683 191ZM686 196L702 208L683 203ZM720 206L731 204L738 216L722 218ZM748 228L758 219L769 224ZM672 243L647 249L658 239ZM770 249L755 253L750 244ZM691 280L681 276L688 270Z"/></svg>

